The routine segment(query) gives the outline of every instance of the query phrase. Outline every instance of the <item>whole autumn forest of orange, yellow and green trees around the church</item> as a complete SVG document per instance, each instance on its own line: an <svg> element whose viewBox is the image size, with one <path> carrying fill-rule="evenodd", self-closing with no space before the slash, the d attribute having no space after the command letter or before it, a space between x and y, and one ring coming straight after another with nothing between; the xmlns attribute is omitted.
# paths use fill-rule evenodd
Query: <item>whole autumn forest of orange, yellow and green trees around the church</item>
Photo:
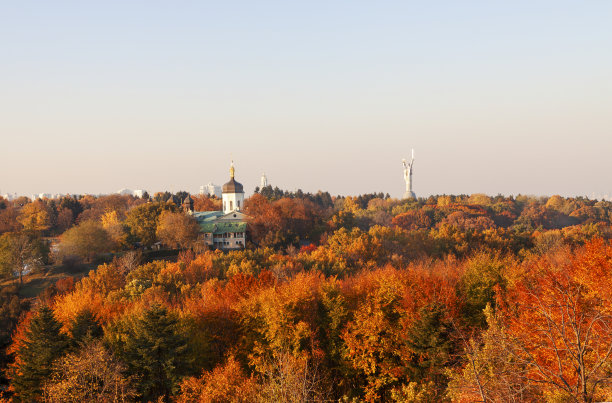
<svg viewBox="0 0 612 403"><path fill-rule="evenodd" d="M186 196L0 198L0 401L612 400L611 202Z"/></svg>

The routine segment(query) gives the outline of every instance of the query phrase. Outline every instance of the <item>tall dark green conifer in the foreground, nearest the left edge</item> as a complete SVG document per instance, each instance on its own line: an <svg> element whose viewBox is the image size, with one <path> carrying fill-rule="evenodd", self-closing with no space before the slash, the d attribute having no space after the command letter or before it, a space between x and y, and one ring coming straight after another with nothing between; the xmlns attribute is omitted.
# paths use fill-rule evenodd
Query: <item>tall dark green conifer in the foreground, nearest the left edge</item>
<svg viewBox="0 0 612 403"><path fill-rule="evenodd" d="M53 362L68 347L68 338L60 333L62 325L53 311L43 306L32 318L12 371L12 386L16 397L32 401L41 395L42 384L49 379Z"/></svg>

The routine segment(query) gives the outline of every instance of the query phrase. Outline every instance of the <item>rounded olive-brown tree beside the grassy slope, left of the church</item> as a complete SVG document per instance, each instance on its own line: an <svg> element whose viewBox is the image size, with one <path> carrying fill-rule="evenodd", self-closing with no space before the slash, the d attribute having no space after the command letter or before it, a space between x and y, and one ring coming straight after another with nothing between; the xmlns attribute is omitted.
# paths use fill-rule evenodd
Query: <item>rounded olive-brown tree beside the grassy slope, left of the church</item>
<svg viewBox="0 0 612 403"><path fill-rule="evenodd" d="M61 236L60 256L79 256L91 261L100 253L110 252L113 246L102 224L90 220L70 228Z"/></svg>

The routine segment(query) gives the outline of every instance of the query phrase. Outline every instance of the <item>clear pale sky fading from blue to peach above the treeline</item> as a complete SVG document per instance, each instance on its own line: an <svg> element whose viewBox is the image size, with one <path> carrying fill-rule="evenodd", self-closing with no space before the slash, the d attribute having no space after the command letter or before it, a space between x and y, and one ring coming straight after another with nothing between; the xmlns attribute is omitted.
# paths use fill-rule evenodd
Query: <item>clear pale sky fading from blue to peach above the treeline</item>
<svg viewBox="0 0 612 403"><path fill-rule="evenodd" d="M0 193L612 194L612 2L2 1Z"/></svg>

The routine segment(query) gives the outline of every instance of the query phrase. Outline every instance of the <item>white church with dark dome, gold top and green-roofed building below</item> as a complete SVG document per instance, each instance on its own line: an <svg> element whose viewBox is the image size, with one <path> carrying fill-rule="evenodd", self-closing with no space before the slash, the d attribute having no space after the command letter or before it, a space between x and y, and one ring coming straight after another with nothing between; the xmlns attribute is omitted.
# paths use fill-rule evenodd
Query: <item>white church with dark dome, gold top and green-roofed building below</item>
<svg viewBox="0 0 612 403"><path fill-rule="evenodd" d="M248 216L244 208L244 189L234 178L234 162L230 167L230 180L222 188L223 211L193 211L193 201L185 199L183 207L190 211L204 234L204 240L211 248L231 250L242 249L246 244Z"/></svg>

